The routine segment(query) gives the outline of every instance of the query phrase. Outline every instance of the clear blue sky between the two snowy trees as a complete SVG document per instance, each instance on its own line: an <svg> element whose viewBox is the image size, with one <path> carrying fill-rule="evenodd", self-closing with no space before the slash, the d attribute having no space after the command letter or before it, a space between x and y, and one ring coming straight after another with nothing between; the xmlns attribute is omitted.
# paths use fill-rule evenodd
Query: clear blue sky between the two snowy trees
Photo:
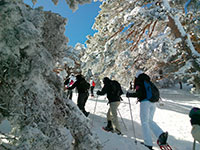
<svg viewBox="0 0 200 150"><path fill-rule="evenodd" d="M33 6L31 0L24 0L26 4ZM82 43L87 40L87 35L93 35L96 31L92 30L95 17L100 11L101 2L92 2L90 4L79 5L79 9L73 12L65 0L59 0L58 5L54 5L51 0L38 0L34 8L43 6L44 10L51 10L67 18L65 35L69 38L68 45L75 46L76 43Z"/></svg>

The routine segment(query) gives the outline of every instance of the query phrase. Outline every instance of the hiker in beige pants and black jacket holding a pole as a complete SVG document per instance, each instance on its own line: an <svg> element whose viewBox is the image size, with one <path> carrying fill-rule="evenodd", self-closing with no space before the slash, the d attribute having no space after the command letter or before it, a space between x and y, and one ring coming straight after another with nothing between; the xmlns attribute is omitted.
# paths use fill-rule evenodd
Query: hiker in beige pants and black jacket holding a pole
<svg viewBox="0 0 200 150"><path fill-rule="evenodd" d="M97 95L107 94L108 104L110 105L107 112L107 126L104 128L107 131L112 131L121 134L120 125L117 117L117 108L120 105L120 95L113 93L112 80L108 77L103 79L104 87L101 91L97 91Z"/></svg>

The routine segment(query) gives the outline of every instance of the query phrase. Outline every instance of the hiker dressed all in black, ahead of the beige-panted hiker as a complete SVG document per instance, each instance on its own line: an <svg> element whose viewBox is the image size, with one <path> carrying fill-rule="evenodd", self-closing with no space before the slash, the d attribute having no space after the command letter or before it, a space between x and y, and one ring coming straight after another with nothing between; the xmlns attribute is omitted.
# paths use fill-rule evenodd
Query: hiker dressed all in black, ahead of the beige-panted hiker
<svg viewBox="0 0 200 150"><path fill-rule="evenodd" d="M77 75L76 76L76 82L69 87L68 89L74 89L76 88L78 91L78 100L77 100L77 105L79 109L83 112L83 114L87 117L89 115L89 112L85 110L85 104L87 102L87 99L89 97L89 88L90 84L87 83L85 78L82 75Z"/></svg>

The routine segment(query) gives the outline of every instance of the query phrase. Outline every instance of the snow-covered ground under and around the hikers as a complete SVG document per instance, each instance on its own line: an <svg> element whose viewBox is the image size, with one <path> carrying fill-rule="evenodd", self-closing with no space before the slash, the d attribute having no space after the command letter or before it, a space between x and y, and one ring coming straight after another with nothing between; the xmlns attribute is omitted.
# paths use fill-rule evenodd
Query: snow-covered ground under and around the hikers
<svg viewBox="0 0 200 150"><path fill-rule="evenodd" d="M97 89L95 89L97 90ZM157 104L154 120L164 131L168 131L168 143L173 150L191 150L193 138L191 135L191 124L188 113L193 106L200 107L200 98L190 94L186 87L182 90L178 87L171 89L160 89L162 102ZM96 91L95 91L96 93ZM115 133L109 133L102 130L106 126L106 112L108 110L107 99L105 96L98 98L89 97L86 103L86 111L90 112L91 129L94 130L101 142L103 150L146 150L147 148L140 144L142 141L142 131L139 118L139 103L136 104L135 98L130 98L132 116L134 121L135 136L130 115L129 101L122 95L123 101L119 107L119 121L124 136ZM77 94L73 94L73 101L76 103ZM96 103L97 102L97 103ZM96 105L96 110L95 109ZM136 141L137 140L137 144ZM154 149L158 150L156 138L154 140ZM200 149L200 144L196 144L196 150Z"/></svg>

